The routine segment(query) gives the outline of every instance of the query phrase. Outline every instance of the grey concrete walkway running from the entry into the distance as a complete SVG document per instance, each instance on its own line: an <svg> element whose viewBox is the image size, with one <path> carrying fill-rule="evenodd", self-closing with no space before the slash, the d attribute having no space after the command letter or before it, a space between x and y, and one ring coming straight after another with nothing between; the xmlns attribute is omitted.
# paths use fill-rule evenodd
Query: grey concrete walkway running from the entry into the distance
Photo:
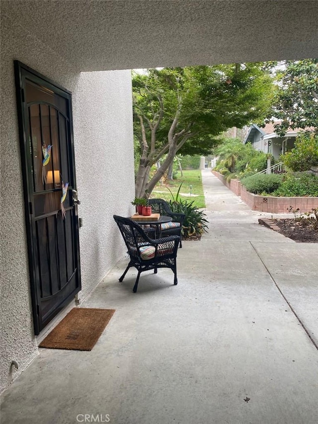
<svg viewBox="0 0 318 424"><path fill-rule="evenodd" d="M116 309L93 350L40 349L1 423L317 423L318 244L261 227L202 175L210 229L179 250L179 284L161 269L133 294L118 262L82 304Z"/></svg>

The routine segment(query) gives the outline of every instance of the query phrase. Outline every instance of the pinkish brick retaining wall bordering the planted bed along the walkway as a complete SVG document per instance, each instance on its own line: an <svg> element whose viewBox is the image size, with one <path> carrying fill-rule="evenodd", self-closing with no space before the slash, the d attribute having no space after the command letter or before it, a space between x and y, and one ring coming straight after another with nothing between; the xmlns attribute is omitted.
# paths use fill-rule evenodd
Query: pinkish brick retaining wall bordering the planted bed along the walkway
<svg viewBox="0 0 318 424"><path fill-rule="evenodd" d="M243 187L238 179L232 179L228 183L222 174L216 171L212 173L219 178L230 190L246 203L253 211L270 213L288 213L290 206L294 210L299 208L299 212L311 212L313 208L318 208L318 197L273 197L258 196L250 193Z"/></svg>

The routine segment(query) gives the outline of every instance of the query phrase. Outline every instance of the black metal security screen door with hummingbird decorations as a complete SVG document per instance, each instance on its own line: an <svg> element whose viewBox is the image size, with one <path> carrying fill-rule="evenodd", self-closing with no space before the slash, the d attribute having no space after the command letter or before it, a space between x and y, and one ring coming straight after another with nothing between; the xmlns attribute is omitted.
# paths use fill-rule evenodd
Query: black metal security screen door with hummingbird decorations
<svg viewBox="0 0 318 424"><path fill-rule="evenodd" d="M39 334L81 288L72 95L19 62L15 77L34 330Z"/></svg>

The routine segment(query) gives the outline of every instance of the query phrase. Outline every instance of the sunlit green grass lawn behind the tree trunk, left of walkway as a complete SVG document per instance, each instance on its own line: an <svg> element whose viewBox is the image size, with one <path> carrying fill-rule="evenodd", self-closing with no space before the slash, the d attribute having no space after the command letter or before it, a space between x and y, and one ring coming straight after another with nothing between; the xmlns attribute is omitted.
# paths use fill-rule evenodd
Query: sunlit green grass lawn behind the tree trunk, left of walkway
<svg viewBox="0 0 318 424"><path fill-rule="evenodd" d="M205 208L201 170L184 170L183 178L181 178L180 171L178 171L177 178L169 181L168 184L164 185L159 182L154 188L150 197L153 199L160 198L167 201L172 200L172 196L168 188L171 190L173 196L175 197L181 182L182 186L180 189L180 198L182 200L194 200L194 205L197 208ZM191 195L190 185L192 185Z"/></svg>

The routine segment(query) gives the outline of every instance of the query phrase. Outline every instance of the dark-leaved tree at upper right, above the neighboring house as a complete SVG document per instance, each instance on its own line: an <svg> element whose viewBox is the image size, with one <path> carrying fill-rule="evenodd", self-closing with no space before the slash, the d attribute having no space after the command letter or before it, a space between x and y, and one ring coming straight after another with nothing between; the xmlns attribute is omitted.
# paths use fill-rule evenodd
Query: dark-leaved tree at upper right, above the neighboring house
<svg viewBox="0 0 318 424"><path fill-rule="evenodd" d="M318 127L318 60L285 61L277 73L277 92L270 117L281 120L276 132Z"/></svg>

